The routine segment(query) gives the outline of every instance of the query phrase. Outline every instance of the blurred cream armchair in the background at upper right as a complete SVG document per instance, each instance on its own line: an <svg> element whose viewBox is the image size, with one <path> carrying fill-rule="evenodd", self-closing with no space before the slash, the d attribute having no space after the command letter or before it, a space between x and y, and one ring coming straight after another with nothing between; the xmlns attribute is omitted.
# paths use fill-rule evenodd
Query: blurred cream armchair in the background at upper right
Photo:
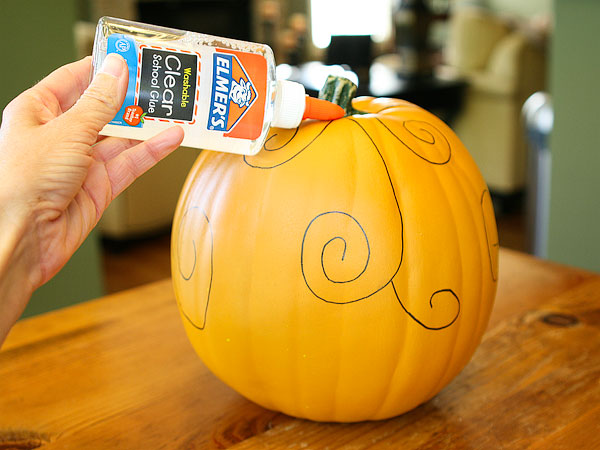
<svg viewBox="0 0 600 450"><path fill-rule="evenodd" d="M525 187L527 147L521 123L525 100L545 86L543 45L507 21L477 9L450 19L446 63L469 87L452 126L490 190Z"/></svg>

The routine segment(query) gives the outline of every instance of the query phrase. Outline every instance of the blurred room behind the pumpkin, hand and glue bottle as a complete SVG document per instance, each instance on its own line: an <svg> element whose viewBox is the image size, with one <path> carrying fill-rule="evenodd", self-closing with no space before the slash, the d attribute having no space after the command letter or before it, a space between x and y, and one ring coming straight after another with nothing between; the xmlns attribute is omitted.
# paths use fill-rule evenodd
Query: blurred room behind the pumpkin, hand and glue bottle
<svg viewBox="0 0 600 450"><path fill-rule="evenodd" d="M600 2L596 0L2 0L0 108L91 54L101 16L269 44L277 75L441 117L489 185L500 245L600 270ZM198 151L118 197L26 315L170 276L170 224Z"/></svg>

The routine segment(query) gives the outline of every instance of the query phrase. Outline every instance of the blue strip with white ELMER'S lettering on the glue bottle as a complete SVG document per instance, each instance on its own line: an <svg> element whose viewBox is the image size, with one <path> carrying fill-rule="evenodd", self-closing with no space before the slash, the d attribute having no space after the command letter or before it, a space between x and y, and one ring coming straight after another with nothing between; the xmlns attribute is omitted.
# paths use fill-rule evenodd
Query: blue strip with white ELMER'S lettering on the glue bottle
<svg viewBox="0 0 600 450"><path fill-rule="evenodd" d="M232 59L233 55L217 52L213 54L213 83L208 115L209 130L228 131Z"/></svg>

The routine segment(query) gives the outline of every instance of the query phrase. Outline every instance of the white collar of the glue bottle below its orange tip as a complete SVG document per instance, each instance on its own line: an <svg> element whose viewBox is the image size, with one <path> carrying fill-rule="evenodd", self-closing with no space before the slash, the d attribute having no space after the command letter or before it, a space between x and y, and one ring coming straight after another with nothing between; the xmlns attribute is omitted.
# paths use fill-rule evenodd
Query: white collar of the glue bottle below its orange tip
<svg viewBox="0 0 600 450"><path fill-rule="evenodd" d="M296 128L306 107L306 91L300 83L279 80L275 94L272 127Z"/></svg>

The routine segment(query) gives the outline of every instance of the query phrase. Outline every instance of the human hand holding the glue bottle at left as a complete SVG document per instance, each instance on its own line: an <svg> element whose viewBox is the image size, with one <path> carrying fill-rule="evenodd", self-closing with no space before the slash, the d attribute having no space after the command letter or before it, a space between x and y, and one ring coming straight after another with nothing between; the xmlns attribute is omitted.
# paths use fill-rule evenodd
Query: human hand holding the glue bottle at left
<svg viewBox="0 0 600 450"><path fill-rule="evenodd" d="M15 98L0 128L0 343L31 293L54 276L123 189L179 146L173 127L145 141L98 137L127 89L109 55L63 66Z"/></svg>

